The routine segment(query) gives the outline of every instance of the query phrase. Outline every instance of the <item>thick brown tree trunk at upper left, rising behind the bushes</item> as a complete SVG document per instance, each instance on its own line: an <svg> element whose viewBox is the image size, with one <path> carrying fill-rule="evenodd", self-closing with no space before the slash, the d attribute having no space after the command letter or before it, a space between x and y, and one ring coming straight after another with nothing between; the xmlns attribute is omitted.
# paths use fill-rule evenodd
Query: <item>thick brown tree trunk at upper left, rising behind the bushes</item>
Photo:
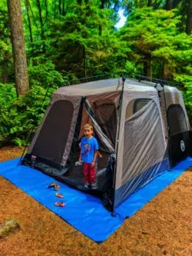
<svg viewBox="0 0 192 256"><path fill-rule="evenodd" d="M28 67L23 35L22 10L19 0L7 0L11 28L12 54L15 66L15 86L17 95L28 92Z"/></svg>

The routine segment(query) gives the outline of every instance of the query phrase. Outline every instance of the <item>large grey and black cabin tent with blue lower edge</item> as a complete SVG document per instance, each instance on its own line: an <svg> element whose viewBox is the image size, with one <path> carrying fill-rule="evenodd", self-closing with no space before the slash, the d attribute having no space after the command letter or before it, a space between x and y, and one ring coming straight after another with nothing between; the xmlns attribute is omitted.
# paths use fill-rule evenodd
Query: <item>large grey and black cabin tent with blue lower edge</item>
<svg viewBox="0 0 192 256"><path fill-rule="evenodd" d="M88 122L103 155L98 161L98 191L85 190L83 168L75 165ZM22 165L94 193L114 211L135 191L192 155L191 134L177 88L124 78L91 81L53 93Z"/></svg>

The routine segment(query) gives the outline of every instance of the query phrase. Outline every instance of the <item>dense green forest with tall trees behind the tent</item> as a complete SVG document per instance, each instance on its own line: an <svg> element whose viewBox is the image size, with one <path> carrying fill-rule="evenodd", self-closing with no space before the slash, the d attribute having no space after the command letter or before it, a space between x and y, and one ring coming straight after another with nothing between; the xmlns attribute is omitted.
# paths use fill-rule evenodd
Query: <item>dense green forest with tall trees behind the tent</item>
<svg viewBox="0 0 192 256"><path fill-rule="evenodd" d="M0 147L25 145L52 91L92 76L180 83L191 121L190 0L2 0L0 35Z"/></svg>

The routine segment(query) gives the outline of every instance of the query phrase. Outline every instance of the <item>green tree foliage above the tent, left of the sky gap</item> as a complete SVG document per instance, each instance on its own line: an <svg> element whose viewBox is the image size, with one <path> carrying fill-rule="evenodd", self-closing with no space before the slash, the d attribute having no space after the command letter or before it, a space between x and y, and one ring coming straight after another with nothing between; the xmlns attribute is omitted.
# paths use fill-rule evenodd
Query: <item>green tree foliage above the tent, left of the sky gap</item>
<svg viewBox="0 0 192 256"><path fill-rule="evenodd" d="M73 71L78 78L116 71L126 55L114 34L114 12L91 4L74 7L51 22L50 54L57 70Z"/></svg>

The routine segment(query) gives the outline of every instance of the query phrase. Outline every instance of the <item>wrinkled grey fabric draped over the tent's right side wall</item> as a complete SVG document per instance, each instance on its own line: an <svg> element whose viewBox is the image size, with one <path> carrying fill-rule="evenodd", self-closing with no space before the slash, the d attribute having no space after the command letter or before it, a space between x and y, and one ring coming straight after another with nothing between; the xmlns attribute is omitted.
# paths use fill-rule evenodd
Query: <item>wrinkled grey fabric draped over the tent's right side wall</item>
<svg viewBox="0 0 192 256"><path fill-rule="evenodd" d="M161 118L154 101L125 120L123 184L151 165L161 162L166 149L162 143L163 136Z"/></svg>

